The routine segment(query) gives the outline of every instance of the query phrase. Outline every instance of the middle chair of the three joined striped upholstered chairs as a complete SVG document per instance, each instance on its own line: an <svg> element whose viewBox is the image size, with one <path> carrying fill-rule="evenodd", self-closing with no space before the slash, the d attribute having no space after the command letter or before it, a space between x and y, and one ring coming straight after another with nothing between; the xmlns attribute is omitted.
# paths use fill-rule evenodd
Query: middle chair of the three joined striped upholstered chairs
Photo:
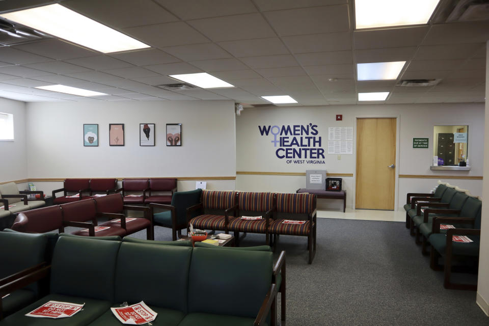
<svg viewBox="0 0 489 326"><path fill-rule="evenodd" d="M268 223L271 212L275 208L274 193L239 193L237 217L230 216L228 231L234 231L236 245L239 246L239 232L264 233L268 243ZM241 216L262 216L261 220L242 220Z"/></svg>

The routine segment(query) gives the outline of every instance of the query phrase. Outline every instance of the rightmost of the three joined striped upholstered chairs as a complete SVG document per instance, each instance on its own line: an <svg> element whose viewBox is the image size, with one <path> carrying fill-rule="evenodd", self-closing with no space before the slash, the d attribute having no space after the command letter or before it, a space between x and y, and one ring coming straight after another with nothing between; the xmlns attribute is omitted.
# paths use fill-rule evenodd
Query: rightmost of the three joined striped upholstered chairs
<svg viewBox="0 0 489 326"><path fill-rule="evenodd" d="M273 234L274 246L278 235L307 236L309 263L316 254L316 195L277 194L277 211L270 222L268 233ZM304 221L303 224L287 224L285 220Z"/></svg>

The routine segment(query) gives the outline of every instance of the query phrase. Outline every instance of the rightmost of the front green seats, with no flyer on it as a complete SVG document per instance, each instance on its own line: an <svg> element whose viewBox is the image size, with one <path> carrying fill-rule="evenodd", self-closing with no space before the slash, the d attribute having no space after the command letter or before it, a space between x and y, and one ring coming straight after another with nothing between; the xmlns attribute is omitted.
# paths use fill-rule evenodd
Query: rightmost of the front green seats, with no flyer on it
<svg viewBox="0 0 489 326"><path fill-rule="evenodd" d="M223 261L225 268L216 267ZM188 312L179 325L253 325L259 319L260 298L265 300L268 294L275 303L271 307L276 306L276 286L270 286L272 270L271 252L194 248L188 275ZM231 289L233 294L226 300L207 299L222 297ZM276 313L272 315L276 317Z"/></svg>

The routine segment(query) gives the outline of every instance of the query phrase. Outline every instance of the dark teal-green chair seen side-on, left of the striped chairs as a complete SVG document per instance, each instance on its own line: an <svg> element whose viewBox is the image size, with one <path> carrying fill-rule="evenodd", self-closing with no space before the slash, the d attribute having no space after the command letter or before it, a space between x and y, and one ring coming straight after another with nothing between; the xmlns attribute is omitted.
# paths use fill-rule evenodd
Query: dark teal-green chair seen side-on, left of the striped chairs
<svg viewBox="0 0 489 326"><path fill-rule="evenodd" d="M176 192L172 196L171 205L151 203L154 211L155 208L165 209L166 211L153 214L153 224L172 229L172 239L175 241L178 236L181 236L182 229L187 228L187 208L194 206L200 202L202 189L195 189L188 192ZM194 215L197 213L194 212ZM192 217L194 216L192 215Z"/></svg>

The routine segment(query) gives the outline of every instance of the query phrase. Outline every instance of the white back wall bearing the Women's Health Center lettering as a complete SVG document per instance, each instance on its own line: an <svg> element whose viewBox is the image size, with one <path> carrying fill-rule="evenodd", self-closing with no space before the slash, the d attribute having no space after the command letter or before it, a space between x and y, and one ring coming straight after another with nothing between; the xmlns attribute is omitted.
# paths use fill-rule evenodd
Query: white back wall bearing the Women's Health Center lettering
<svg viewBox="0 0 489 326"><path fill-rule="evenodd" d="M336 114L343 120L336 121ZM397 117L399 120L398 174L409 175L458 175L482 176L483 164L483 118L484 105L479 103L454 104L395 104L395 105L331 105L306 107L260 107L246 108L236 117L236 171L255 172L305 172L310 169L327 170L328 173L352 173L354 177L342 177L347 191L347 207L352 207L355 197L356 173L356 118ZM287 164L286 159L276 156L271 141L272 135L262 136L258 125L306 125L318 126L325 150L325 164ZM433 153L433 126L443 124L469 125L469 158L471 171L431 171ZM327 154L328 127L354 127L354 149L352 155ZM428 149L413 149L413 138L429 138ZM306 184L304 176L242 175L236 177L236 188L242 191L294 192ZM448 180L464 186L475 195L481 195L481 180ZM436 185L437 179L398 180L398 206L405 202L405 194L412 191L427 191ZM416 188L416 189L415 189ZM332 202L332 207L342 203Z"/></svg>

